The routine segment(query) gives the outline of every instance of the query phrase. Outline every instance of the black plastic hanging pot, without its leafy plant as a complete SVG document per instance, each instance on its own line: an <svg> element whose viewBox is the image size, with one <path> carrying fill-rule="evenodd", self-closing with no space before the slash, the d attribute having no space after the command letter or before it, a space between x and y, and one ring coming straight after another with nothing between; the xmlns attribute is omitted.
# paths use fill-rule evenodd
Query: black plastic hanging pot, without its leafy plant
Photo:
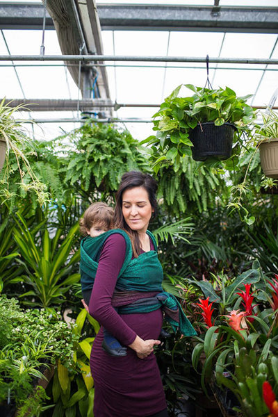
<svg viewBox="0 0 278 417"><path fill-rule="evenodd" d="M213 122L198 124L189 134L194 145L191 148L193 159L206 161L208 158L230 158L235 131L236 126L231 123L221 126L215 126Z"/></svg>

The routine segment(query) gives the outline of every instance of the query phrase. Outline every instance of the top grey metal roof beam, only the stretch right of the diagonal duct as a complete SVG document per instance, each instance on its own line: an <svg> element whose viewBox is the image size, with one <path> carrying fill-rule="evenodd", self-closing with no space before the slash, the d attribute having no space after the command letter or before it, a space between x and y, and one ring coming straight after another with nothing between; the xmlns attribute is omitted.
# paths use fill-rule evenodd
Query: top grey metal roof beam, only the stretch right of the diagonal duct
<svg viewBox="0 0 278 417"><path fill-rule="evenodd" d="M99 5L101 28L113 30L277 33L277 7Z"/></svg>

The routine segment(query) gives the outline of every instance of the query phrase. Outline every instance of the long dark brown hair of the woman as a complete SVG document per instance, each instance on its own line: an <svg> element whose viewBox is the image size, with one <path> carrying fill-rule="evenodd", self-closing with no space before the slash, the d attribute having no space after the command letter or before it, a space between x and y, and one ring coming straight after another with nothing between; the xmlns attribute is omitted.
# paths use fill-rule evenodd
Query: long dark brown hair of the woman
<svg viewBox="0 0 278 417"><path fill-rule="evenodd" d="M123 229L129 234L131 238L133 255L138 257L138 255L140 254L139 235L137 231L132 230L126 224L126 221L124 220L124 216L122 214L122 195L124 191L128 190L129 188L135 188L135 187L145 188L149 197L149 202L152 206L153 216L157 214L156 180L152 177L152 175L143 174L143 172L140 172L140 171L130 171L130 172L126 172L122 176L120 186L116 193L114 223L115 223L116 229Z"/></svg>

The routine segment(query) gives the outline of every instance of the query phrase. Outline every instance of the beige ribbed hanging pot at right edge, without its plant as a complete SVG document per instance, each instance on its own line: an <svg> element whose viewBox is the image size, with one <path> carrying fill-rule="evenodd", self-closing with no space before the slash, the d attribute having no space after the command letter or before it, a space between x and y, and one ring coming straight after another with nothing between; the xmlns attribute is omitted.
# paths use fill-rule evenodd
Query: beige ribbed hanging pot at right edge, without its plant
<svg viewBox="0 0 278 417"><path fill-rule="evenodd" d="M278 138L261 142L259 150L265 177L278 178Z"/></svg>

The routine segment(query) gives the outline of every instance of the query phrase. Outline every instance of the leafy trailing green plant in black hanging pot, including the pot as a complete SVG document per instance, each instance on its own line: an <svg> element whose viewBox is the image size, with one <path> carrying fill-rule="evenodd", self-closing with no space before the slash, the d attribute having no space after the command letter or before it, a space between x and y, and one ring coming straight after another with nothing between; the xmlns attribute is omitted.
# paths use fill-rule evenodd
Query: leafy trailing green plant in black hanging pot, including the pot
<svg viewBox="0 0 278 417"><path fill-rule="evenodd" d="M179 163L182 156L191 154L195 161L227 159L236 154L236 145L243 143L243 132L255 117L254 109L246 104L250 96L237 97L228 87L211 90L185 86L193 96L178 97L179 85L154 115L156 136L143 141L151 145L154 163ZM213 149L214 145L220 149Z"/></svg>

